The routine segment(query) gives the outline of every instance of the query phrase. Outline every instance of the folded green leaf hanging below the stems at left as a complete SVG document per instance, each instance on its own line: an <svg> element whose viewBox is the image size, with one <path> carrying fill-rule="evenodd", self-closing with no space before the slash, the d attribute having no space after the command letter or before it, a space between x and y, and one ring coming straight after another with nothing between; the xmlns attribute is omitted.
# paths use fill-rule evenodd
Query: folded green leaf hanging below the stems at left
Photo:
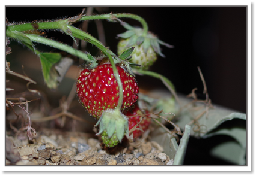
<svg viewBox="0 0 256 176"><path fill-rule="evenodd" d="M58 86L59 74L53 65L59 62L59 60L61 59L61 54L40 53L39 57L41 60L44 81L49 88L56 89L56 87Z"/></svg>

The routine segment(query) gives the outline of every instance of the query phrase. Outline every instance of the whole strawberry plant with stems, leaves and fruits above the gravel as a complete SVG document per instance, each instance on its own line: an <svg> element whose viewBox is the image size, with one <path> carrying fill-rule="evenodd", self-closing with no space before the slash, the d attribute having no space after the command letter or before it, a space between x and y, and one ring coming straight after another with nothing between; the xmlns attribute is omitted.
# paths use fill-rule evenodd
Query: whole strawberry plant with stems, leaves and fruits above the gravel
<svg viewBox="0 0 256 176"><path fill-rule="evenodd" d="M165 43L164 38L160 40L157 34L150 32L147 22L141 16L130 13L104 14L99 12L99 14L86 15L85 10L83 10L81 14L73 17L22 23L9 22L7 16L6 54L10 56L15 52L15 49L10 47L10 43L13 41L18 41L32 51L40 60L41 75L47 90L56 91L56 89L65 88L59 85L61 85L67 72L71 68L75 68L76 71L79 70L79 72L72 72L75 83L73 83L67 97L63 96L58 99L59 107L54 109L40 107L47 114L45 113L44 116L36 119L29 110L29 104L39 99L43 101L44 93L31 89L31 84L37 82L29 78L27 76L29 74L25 74L26 68L23 70L23 75L18 74L11 68L15 63L14 60L6 61L7 75L28 81L26 90L29 95L37 96L34 99L26 99L23 95L6 98L8 111L12 110L17 119L23 117L22 113L25 113L27 117L26 119L21 118L22 128L16 129L12 123L10 123L10 128L17 133L26 130L29 142L34 142L37 128L32 122L53 120L50 125L48 124L49 126L54 124L62 128L69 124L66 117L72 118L74 123L75 121L92 123L84 118L86 114L89 114L91 119L95 120L93 122L94 135L96 133L99 136L103 143L102 146L115 150L115 147L118 147L124 138L129 139L129 142L139 141L142 143L144 142L144 139L141 138L142 135L150 129L149 132L152 135L149 138L164 146L165 151L169 152L167 153L168 156L174 159L174 165L183 164L190 135L208 138L213 135L228 134L239 141L239 145L234 144L234 146L240 152L236 155L239 156L237 160L243 164L241 156L244 156L246 148L246 145L243 145L245 143L243 140L245 139L243 138L244 131L232 129L236 133L242 133L242 135L233 135L230 131L219 129L218 126L225 120L235 118L246 120L246 114L216 110L208 96L206 81L204 81L200 69L198 71L203 81L206 99L199 99L195 93L196 89L193 89L189 95L192 100L178 95L174 85L167 77L149 70L150 66L156 62L157 57L165 57L163 53L174 46ZM138 21L141 23L141 28L128 24L126 19ZM117 44L117 52L112 51L103 42L104 38L100 38L100 35L96 38L89 34L86 29L80 29L79 27L82 25L75 26L77 23L88 24L90 20L97 22L108 20L109 25L116 22L124 27L123 33L115 34L120 40ZM73 47L47 37L49 31L59 31L69 36L73 40ZM92 50L82 46L82 41L90 43L90 46L96 47L99 52L93 54ZM65 53L56 50L44 51L36 44L47 45ZM164 46L164 50L160 48L162 46ZM161 92L163 95L157 95L157 98L152 92L145 94L139 92L140 83L136 77L143 75L161 80L169 92ZM150 81L150 84L154 84L154 81ZM13 89L6 88L6 92L11 90ZM56 98L53 99L56 101ZM76 114L76 110L71 112L73 99L80 102L80 107L85 110L83 113ZM20 108L22 113L17 113L16 108ZM149 128L150 125L151 128ZM175 150L169 150L170 145ZM227 150L225 147L224 149ZM219 150L218 148L215 152L221 153Z"/></svg>

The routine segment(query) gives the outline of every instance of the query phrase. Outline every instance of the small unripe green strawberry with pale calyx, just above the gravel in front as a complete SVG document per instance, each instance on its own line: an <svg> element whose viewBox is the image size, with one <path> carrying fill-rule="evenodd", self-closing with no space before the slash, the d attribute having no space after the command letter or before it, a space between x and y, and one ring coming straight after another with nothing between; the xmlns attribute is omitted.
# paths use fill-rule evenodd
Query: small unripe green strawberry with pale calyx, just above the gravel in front
<svg viewBox="0 0 256 176"><path fill-rule="evenodd" d="M124 135L129 136L128 120L117 108L103 111L102 116L95 126L97 125L100 126L99 132L96 135L103 135L103 139L105 139L103 143L105 143L107 147L117 145L115 138L118 139L118 142L121 142ZM113 141L112 145L108 143L109 141Z"/></svg>

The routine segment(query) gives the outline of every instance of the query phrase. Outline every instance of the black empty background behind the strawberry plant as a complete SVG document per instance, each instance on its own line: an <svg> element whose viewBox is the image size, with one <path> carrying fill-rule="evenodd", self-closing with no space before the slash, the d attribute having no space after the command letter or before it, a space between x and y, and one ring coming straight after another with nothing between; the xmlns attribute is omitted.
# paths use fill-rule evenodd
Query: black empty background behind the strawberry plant
<svg viewBox="0 0 256 176"><path fill-rule="evenodd" d="M75 16L81 13L82 8L84 7L6 7L6 17L9 22L48 20ZM151 66L151 71L168 77L177 92L187 95L197 87L198 95L203 94L203 84L197 69L200 66L212 102L246 113L246 7L108 7L105 11L111 12L138 14L146 20L149 30L157 34L160 40L174 45L175 48L172 49L162 46L162 53L166 57L159 57L155 65ZM130 25L140 26L136 20L122 20ZM106 45L117 53L116 35L125 29L118 23L106 20L102 22ZM88 32L97 37L94 22L90 22ZM59 32L47 32L47 35L69 45L73 43L72 38ZM88 47L91 47L90 53L93 53L95 48L91 45ZM136 78L144 87L165 88L155 78ZM210 157L207 156L207 151L197 154L194 144L197 147L200 140L190 139L184 165L230 164L213 159L201 160L201 163L188 162L195 157Z"/></svg>

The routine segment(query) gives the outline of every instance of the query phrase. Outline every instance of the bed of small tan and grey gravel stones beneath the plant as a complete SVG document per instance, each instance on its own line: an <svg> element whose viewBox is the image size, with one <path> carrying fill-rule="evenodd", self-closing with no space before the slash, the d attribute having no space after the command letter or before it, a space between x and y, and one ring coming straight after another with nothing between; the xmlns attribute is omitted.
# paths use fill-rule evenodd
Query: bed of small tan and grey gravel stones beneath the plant
<svg viewBox="0 0 256 176"><path fill-rule="evenodd" d="M145 141L102 147L93 134L44 129L28 143L26 133L6 137L5 165L172 165L163 147Z"/></svg>

